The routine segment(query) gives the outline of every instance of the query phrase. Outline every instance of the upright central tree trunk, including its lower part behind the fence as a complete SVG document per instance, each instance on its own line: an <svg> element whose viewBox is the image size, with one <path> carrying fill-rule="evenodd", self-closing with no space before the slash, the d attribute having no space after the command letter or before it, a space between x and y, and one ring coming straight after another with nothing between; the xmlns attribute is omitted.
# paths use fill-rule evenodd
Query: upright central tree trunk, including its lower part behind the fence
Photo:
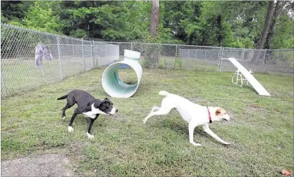
<svg viewBox="0 0 294 177"><path fill-rule="evenodd" d="M151 38L155 37L157 34L157 29L159 25L159 0L153 0L151 4L151 24L150 24L150 34ZM151 61L151 67L155 68L158 65L159 49L158 45L151 45L148 58Z"/></svg>

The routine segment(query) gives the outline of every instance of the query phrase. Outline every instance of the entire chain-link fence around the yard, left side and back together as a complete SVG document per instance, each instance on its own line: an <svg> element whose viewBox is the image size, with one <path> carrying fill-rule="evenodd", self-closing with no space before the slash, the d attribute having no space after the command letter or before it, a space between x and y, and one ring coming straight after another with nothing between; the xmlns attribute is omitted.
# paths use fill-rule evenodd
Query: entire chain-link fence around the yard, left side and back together
<svg viewBox="0 0 294 177"><path fill-rule="evenodd" d="M294 73L293 49L83 40L1 24L1 96L123 60L125 49L141 52L139 62L144 68L236 71L228 60L235 57L253 73Z"/></svg>

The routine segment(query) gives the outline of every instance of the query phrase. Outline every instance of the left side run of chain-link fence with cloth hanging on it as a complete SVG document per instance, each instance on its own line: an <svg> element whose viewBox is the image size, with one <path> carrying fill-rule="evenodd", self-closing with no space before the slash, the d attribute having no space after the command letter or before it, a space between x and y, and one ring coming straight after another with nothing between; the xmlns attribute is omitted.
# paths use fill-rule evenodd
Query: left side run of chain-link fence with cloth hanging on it
<svg viewBox="0 0 294 177"><path fill-rule="evenodd" d="M118 46L1 24L1 97L105 66Z"/></svg>

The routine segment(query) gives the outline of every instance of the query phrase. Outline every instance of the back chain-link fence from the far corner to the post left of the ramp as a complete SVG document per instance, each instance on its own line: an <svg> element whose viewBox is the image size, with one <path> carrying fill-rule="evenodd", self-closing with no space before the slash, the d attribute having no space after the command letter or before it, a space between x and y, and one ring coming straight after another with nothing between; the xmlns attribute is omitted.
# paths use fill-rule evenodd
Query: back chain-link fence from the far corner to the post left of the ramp
<svg viewBox="0 0 294 177"><path fill-rule="evenodd" d="M101 42L101 41L100 41ZM141 52L144 68L217 71L221 48L160 43L104 42L118 45L120 59L125 49Z"/></svg>

